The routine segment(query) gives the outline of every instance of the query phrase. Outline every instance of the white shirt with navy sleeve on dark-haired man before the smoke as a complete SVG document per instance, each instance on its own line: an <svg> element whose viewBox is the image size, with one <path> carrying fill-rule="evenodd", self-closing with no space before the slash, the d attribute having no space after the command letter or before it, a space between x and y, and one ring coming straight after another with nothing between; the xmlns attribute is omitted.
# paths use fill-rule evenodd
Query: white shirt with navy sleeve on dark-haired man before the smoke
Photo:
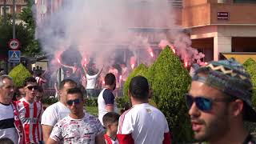
<svg viewBox="0 0 256 144"><path fill-rule="evenodd" d="M114 112L118 113L118 105L115 102L114 94L111 90L103 89L101 93L98 95L98 120L102 123L103 116L107 113L106 106L113 105Z"/></svg>

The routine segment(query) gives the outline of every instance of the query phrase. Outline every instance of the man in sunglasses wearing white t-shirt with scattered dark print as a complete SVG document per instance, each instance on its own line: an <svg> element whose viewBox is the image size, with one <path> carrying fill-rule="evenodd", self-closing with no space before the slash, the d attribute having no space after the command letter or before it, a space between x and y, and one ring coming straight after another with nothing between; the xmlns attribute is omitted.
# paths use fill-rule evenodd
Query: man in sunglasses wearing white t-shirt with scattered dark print
<svg viewBox="0 0 256 144"><path fill-rule="evenodd" d="M68 90L66 105L70 109L70 114L54 126L47 144L105 143L101 122L84 112L84 104L85 100L80 88Z"/></svg>

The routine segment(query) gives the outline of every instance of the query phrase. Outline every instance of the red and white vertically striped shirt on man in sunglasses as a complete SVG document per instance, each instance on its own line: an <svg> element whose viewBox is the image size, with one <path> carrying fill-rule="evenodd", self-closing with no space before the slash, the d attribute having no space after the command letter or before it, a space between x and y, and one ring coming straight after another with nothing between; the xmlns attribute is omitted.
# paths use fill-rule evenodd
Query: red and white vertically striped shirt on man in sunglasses
<svg viewBox="0 0 256 144"><path fill-rule="evenodd" d="M17 101L17 110L25 132L26 143L42 141L42 127L40 123L43 113L42 103L30 103L25 98L22 98Z"/></svg>

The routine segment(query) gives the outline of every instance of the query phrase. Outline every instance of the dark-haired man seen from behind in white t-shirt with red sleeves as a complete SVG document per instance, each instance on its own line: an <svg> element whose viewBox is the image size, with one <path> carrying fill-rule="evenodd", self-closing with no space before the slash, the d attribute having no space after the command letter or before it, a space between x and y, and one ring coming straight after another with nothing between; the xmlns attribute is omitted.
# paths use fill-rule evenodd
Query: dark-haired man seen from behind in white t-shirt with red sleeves
<svg viewBox="0 0 256 144"><path fill-rule="evenodd" d="M170 131L164 114L148 103L149 84L146 78L132 78L128 94L133 107L119 118L118 142L170 144Z"/></svg>

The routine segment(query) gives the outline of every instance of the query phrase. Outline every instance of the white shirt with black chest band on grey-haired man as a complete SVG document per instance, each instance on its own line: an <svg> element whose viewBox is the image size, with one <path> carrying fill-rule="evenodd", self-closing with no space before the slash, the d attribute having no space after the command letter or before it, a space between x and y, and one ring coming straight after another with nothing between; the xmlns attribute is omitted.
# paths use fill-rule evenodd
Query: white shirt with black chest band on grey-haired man
<svg viewBox="0 0 256 144"><path fill-rule="evenodd" d="M0 138L10 138L18 143L18 134L14 126L14 110L11 105L0 103Z"/></svg>

